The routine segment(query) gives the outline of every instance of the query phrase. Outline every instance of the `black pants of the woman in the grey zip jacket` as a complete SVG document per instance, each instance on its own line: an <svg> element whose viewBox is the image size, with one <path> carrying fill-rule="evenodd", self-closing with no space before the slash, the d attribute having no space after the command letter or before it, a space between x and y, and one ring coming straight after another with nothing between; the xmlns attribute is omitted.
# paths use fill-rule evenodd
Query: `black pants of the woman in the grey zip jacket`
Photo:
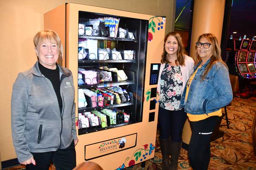
<svg viewBox="0 0 256 170"><path fill-rule="evenodd" d="M54 152L32 153L36 165L26 165L26 170L49 170L54 163L56 170L72 170L76 167L76 150L74 141L66 149Z"/></svg>

